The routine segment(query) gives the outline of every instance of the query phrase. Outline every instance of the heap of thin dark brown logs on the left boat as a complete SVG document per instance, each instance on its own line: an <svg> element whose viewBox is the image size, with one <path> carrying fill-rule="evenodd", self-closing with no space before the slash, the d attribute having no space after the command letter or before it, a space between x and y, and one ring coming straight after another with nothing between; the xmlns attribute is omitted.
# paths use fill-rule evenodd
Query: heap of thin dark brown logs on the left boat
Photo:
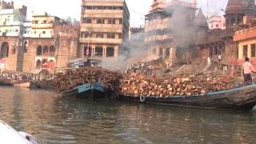
<svg viewBox="0 0 256 144"><path fill-rule="evenodd" d="M100 82L106 90L117 91L122 75L101 67L88 67L68 70L65 74L56 74L54 78L58 92L71 90L86 83Z"/></svg>

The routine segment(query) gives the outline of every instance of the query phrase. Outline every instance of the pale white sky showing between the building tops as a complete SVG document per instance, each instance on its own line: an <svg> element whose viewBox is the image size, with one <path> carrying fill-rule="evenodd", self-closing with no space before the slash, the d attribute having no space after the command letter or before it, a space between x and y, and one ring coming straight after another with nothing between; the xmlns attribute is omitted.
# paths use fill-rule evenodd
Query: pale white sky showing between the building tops
<svg viewBox="0 0 256 144"><path fill-rule="evenodd" d="M28 7L28 19L31 19L31 11L38 11L47 12L59 18L71 17L80 20L81 2L82 0L14 0L14 3ZM130 26L144 24L144 15L149 12L152 2L153 0L126 0L130 10ZM207 16L223 14L221 9L225 10L226 3L227 0L198 0L198 8L201 7Z"/></svg>

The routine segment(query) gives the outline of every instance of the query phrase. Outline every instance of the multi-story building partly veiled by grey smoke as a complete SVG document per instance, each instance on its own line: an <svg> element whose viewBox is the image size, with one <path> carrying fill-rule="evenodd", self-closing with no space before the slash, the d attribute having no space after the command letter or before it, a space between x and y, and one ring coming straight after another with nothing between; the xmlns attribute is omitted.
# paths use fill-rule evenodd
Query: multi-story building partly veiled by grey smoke
<svg viewBox="0 0 256 144"><path fill-rule="evenodd" d="M146 14L146 47L150 58L186 59L192 40L197 2L154 0Z"/></svg>

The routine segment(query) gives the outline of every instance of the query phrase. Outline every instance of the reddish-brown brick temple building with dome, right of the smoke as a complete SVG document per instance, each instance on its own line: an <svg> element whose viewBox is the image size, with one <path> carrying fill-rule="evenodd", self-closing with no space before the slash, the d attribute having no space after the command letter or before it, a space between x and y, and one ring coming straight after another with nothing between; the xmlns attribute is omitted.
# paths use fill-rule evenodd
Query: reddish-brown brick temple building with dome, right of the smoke
<svg viewBox="0 0 256 144"><path fill-rule="evenodd" d="M250 8L250 10L249 10ZM243 22L254 18L256 6L251 0L229 0L226 6L226 30L206 31L205 38L199 38L196 46L199 51L198 60L206 62L218 60L221 55L222 64L233 64L238 58L238 43L234 42L234 32Z"/></svg>

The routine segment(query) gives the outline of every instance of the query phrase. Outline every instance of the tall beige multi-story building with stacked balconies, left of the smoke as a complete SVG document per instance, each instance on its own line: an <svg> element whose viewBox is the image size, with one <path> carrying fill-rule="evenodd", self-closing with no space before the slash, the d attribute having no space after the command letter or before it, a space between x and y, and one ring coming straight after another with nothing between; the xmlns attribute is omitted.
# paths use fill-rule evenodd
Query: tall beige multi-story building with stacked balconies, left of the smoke
<svg viewBox="0 0 256 144"><path fill-rule="evenodd" d="M125 0L82 0L79 57L116 58L128 38Z"/></svg>

